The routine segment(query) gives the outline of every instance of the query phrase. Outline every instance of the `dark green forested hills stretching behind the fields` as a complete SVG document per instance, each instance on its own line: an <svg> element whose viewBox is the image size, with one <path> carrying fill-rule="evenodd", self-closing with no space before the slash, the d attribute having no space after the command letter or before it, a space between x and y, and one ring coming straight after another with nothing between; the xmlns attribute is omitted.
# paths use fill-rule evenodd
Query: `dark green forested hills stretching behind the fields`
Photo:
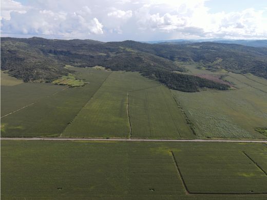
<svg viewBox="0 0 267 200"><path fill-rule="evenodd" d="M186 84L188 75L181 78L185 77L184 74L180 74L180 81L177 81L178 76L173 71L185 71L177 64L179 62L196 62L209 70L250 72L267 78L267 48L219 43L164 45L134 41L103 43L89 39L1 38L1 69L25 82L51 82L70 73L65 65L100 65L111 70L139 71L149 77L154 75L161 83L182 91L198 91L200 87L227 88L199 78L189 78L196 83ZM153 74L149 75L150 72ZM163 77L168 79L168 83Z"/></svg>

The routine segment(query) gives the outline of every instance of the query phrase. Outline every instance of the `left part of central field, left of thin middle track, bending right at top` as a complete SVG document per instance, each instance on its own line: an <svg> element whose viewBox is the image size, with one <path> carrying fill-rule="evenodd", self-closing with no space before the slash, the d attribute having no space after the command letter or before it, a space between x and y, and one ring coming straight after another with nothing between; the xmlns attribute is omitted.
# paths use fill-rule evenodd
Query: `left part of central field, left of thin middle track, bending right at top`
<svg viewBox="0 0 267 200"><path fill-rule="evenodd" d="M62 136L130 136L127 92L157 84L138 73L111 72Z"/></svg>

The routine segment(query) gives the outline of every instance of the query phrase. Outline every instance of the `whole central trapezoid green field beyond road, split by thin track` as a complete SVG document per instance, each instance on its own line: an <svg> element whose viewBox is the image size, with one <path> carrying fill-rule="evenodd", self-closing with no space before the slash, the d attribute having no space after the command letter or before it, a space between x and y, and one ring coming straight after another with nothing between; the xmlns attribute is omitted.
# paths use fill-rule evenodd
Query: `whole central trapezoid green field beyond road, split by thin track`
<svg viewBox="0 0 267 200"><path fill-rule="evenodd" d="M112 72L62 136L173 138L194 135L166 87L138 73Z"/></svg>

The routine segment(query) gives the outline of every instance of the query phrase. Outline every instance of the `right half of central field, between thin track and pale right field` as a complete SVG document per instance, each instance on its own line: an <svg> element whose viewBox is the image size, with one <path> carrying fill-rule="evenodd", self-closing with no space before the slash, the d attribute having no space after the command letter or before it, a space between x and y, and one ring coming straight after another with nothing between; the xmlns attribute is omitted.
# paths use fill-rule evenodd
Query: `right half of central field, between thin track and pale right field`
<svg viewBox="0 0 267 200"><path fill-rule="evenodd" d="M129 92L131 137L194 138L170 91L158 85Z"/></svg>

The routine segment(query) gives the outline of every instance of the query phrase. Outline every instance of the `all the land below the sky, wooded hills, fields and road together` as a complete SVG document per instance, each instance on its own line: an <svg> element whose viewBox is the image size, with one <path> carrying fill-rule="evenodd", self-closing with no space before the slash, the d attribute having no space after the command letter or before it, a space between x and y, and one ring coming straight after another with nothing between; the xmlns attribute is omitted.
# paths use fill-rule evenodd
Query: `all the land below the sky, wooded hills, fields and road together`
<svg viewBox="0 0 267 200"><path fill-rule="evenodd" d="M265 48L1 39L1 198L267 198Z"/></svg>

